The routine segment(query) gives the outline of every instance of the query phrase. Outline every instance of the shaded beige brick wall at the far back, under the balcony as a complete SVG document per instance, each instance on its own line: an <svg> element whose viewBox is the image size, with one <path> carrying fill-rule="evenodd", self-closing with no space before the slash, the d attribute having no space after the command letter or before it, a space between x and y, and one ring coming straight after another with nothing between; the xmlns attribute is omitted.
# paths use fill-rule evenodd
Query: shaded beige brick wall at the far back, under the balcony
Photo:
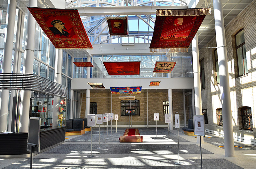
<svg viewBox="0 0 256 169"><path fill-rule="evenodd" d="M160 121L157 124L164 123L163 102L168 101L168 90L148 90L148 121L149 124L156 124L154 121L154 113L159 113ZM127 96L124 94L112 94L112 113L118 114L122 124L129 125L129 116L121 116L121 104L119 96ZM142 90L141 94L131 94L135 99L140 100L140 115L132 116L132 124L147 124L147 90ZM90 90L90 102L97 102L97 113L110 113L111 93L110 90ZM180 114L180 121L183 121L183 92L181 90L172 90L173 113ZM86 93L83 93L81 118L84 118L86 107ZM182 122L181 122L182 123Z"/></svg>

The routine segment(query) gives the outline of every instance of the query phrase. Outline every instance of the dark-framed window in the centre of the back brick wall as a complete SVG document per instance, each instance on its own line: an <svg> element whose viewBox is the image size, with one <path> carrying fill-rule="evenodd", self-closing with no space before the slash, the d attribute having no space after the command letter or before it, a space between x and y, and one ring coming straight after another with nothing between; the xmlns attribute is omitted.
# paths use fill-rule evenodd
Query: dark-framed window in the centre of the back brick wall
<svg viewBox="0 0 256 169"><path fill-rule="evenodd" d="M121 116L130 115L126 113L127 110L131 110L132 115L140 115L140 100L121 100Z"/></svg>

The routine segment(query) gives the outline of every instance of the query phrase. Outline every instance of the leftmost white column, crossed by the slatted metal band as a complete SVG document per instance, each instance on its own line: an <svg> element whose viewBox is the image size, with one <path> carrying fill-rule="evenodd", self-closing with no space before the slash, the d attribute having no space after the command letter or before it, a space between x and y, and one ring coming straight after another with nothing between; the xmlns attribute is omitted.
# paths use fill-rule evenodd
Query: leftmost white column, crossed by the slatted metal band
<svg viewBox="0 0 256 169"><path fill-rule="evenodd" d="M4 37L4 59L2 73L11 73L12 65L12 43L14 36L14 23L16 12L16 0L8 0L6 22ZM7 114L9 102L9 90L0 91L0 132L7 129Z"/></svg>

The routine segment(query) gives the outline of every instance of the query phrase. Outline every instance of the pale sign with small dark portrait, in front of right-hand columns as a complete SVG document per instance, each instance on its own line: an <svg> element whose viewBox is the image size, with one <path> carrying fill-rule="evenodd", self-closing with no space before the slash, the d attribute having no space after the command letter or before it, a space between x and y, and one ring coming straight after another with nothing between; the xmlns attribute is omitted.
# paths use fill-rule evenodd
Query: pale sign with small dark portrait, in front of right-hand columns
<svg viewBox="0 0 256 169"><path fill-rule="evenodd" d="M204 115L193 115L194 134L196 136L205 136Z"/></svg>

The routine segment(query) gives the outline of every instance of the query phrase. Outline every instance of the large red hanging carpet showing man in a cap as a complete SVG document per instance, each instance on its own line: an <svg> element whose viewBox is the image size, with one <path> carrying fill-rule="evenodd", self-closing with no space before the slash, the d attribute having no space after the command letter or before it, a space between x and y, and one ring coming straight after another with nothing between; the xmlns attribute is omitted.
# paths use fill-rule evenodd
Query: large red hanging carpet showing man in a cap
<svg viewBox="0 0 256 169"><path fill-rule="evenodd" d="M76 9L32 8L28 10L58 49L92 49Z"/></svg>

